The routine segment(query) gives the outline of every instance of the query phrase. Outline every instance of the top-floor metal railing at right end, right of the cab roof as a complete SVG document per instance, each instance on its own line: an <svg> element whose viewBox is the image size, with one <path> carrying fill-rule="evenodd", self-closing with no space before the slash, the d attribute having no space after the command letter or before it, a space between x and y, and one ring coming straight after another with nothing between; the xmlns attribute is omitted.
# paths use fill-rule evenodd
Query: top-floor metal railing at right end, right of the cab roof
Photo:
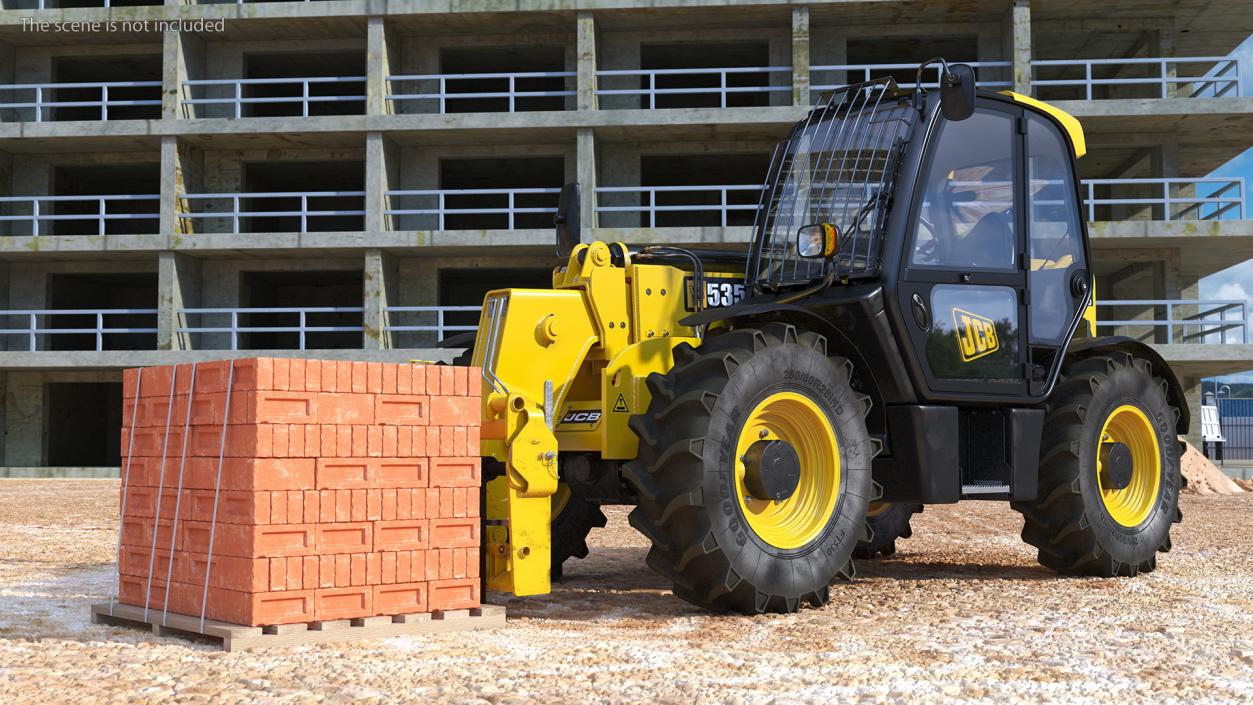
<svg viewBox="0 0 1253 705"><path fill-rule="evenodd" d="M1200 75L1178 75L1185 66L1208 66ZM1037 78L1045 69L1054 74L1081 76L1060 79ZM1135 75L1116 75L1133 71ZM1190 88L1188 88L1188 85ZM1158 98L1222 98L1240 95L1239 60L1228 56L1174 56L1149 59L1049 59L1031 61L1032 88L1083 89L1083 98L1093 100L1096 86L1157 86ZM1175 91L1172 88L1177 86ZM1174 95L1172 95L1174 93Z"/></svg>

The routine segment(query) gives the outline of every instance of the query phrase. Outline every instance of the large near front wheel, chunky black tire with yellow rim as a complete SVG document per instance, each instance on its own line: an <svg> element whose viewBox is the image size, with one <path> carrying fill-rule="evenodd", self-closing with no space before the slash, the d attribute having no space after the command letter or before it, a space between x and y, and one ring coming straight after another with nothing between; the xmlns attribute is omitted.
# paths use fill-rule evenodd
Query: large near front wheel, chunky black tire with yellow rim
<svg viewBox="0 0 1253 705"><path fill-rule="evenodd" d="M630 523L653 543L648 565L677 596L793 612L852 577L873 451L868 399L848 381L821 336L781 323L680 344L669 373L649 376L653 401L630 421L639 453L623 473L639 497ZM791 495L763 495L767 471L751 472L746 450L758 441L794 450Z"/></svg>

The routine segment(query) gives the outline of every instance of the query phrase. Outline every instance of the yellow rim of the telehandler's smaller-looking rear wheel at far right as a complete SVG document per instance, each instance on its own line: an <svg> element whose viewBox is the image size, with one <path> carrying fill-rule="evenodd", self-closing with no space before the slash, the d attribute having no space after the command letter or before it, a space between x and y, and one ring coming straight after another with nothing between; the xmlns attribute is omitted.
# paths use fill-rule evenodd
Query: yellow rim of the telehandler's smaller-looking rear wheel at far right
<svg viewBox="0 0 1253 705"><path fill-rule="evenodd" d="M1123 443L1131 452L1131 481L1121 490L1100 487L1100 443ZM1162 488L1162 453L1153 423L1139 407L1115 408L1100 430L1096 446L1096 487L1105 511L1118 523L1135 527L1153 512Z"/></svg>

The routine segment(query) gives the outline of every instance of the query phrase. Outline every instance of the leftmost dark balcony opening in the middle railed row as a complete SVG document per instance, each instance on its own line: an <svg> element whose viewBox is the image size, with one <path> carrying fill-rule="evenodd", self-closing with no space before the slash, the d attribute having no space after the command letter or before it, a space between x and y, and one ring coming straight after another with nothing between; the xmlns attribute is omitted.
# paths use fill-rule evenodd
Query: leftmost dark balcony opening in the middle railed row
<svg viewBox="0 0 1253 705"><path fill-rule="evenodd" d="M43 213L56 217L43 232L54 235L153 234L160 224L159 194L159 164L56 167L53 195L73 198L40 204Z"/></svg>

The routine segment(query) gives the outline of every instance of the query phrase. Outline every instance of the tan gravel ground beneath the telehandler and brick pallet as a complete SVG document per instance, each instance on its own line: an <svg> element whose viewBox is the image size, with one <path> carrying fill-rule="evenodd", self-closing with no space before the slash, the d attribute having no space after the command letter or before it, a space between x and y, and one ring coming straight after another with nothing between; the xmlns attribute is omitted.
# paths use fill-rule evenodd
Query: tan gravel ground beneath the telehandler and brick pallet
<svg viewBox="0 0 1253 705"><path fill-rule="evenodd" d="M504 630L223 654L93 626L115 481L0 481L0 702L1253 702L1253 493L1185 496L1157 572L1064 579L1006 505L930 507L831 604L703 614L613 508Z"/></svg>

